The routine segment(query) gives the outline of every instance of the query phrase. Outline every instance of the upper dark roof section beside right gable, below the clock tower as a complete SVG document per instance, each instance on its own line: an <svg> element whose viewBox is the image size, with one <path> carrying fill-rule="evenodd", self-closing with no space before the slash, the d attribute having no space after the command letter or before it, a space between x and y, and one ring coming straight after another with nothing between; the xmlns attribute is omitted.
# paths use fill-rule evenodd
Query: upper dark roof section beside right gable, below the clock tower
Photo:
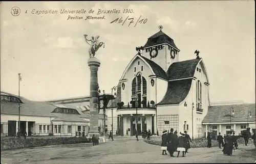
<svg viewBox="0 0 256 164"><path fill-rule="evenodd" d="M169 80L193 77L200 59L176 62L169 66L166 74Z"/></svg>

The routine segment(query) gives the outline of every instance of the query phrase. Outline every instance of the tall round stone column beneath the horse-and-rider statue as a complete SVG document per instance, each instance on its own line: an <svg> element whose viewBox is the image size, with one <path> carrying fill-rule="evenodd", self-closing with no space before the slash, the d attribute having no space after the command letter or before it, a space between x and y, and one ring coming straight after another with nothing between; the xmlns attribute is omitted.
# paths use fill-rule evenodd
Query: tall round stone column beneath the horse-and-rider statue
<svg viewBox="0 0 256 164"><path fill-rule="evenodd" d="M91 70L90 78L90 131L88 136L99 136L98 130L98 67L100 61L97 58L90 58L88 66Z"/></svg>

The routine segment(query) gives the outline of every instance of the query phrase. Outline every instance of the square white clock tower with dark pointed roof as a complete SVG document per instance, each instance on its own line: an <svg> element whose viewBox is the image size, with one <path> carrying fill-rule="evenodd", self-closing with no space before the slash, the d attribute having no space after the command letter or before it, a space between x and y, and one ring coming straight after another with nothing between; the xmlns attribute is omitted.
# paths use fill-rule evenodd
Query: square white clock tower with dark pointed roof
<svg viewBox="0 0 256 164"><path fill-rule="evenodd" d="M143 56L154 61L167 71L169 66L179 62L179 48L174 40L162 32L163 26L159 25L160 31L147 39L143 46Z"/></svg>

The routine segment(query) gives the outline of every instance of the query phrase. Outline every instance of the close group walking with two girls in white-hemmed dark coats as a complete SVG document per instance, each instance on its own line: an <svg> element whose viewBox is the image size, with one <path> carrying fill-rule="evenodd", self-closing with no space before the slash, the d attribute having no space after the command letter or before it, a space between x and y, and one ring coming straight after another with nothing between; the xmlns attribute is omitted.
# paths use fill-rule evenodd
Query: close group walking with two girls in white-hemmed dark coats
<svg viewBox="0 0 256 164"><path fill-rule="evenodd" d="M178 132L174 132L173 128L170 129L169 133L167 133L167 130L164 130L161 143L162 155L167 155L167 150L171 157L174 157L174 152L178 152L177 157L182 152L182 157L184 157L190 148L190 142L192 141L187 131L184 131L184 133L180 132L178 136Z"/></svg>

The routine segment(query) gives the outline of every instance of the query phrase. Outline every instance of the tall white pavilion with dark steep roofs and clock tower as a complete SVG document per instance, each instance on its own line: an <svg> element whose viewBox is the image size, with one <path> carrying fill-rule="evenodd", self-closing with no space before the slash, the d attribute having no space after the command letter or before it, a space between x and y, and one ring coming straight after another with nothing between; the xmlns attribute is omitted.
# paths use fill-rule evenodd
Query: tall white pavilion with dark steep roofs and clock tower
<svg viewBox="0 0 256 164"><path fill-rule="evenodd" d="M140 135L148 129L161 135L174 128L190 136L200 131L202 136L201 121L209 106L207 71L199 56L186 61L179 61L179 56L180 49L162 29L147 39L142 53L125 68L113 104L108 104L109 131L113 119L119 135L132 136L136 130Z"/></svg>

